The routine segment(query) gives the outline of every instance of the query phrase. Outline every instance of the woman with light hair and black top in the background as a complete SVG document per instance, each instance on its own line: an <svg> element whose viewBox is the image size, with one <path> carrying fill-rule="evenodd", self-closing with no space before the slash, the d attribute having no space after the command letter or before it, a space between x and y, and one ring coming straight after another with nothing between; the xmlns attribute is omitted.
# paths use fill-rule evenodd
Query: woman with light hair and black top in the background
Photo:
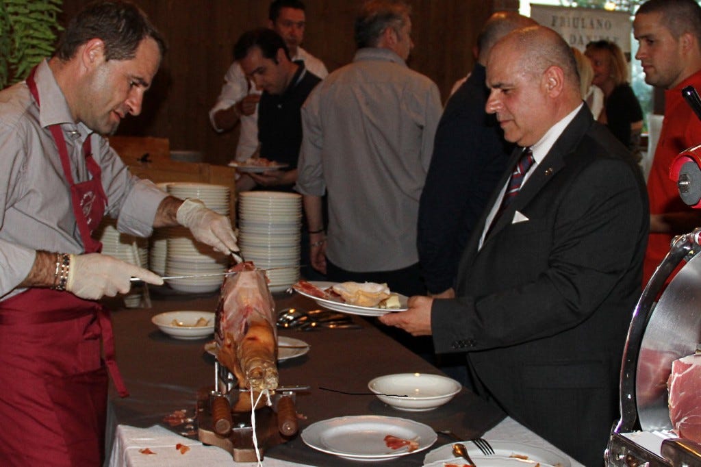
<svg viewBox="0 0 701 467"><path fill-rule="evenodd" d="M620 47L611 41L590 42L585 55L594 69L592 83L604 91L604 111L599 121L639 160L643 111L627 82L628 65Z"/></svg>

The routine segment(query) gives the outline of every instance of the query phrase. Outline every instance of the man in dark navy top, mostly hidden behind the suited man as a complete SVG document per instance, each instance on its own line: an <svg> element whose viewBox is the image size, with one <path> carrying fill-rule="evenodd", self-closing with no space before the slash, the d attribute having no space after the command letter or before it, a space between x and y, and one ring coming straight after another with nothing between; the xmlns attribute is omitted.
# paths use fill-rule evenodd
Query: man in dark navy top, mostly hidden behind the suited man
<svg viewBox="0 0 701 467"><path fill-rule="evenodd" d="M438 123L418 205L417 238L421 272L433 297L455 296L460 255L514 148L494 115L484 111L489 51L514 29L536 24L511 11L491 15L477 38L477 63Z"/></svg>

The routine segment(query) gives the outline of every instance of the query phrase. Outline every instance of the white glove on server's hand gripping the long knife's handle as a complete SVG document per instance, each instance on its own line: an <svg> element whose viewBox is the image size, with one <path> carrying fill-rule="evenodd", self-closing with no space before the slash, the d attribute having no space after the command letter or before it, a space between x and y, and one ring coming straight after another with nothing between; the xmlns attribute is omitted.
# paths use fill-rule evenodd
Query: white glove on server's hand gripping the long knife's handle
<svg viewBox="0 0 701 467"><path fill-rule="evenodd" d="M100 253L71 255L70 264L66 290L83 299L97 300L104 296L114 297L117 293L125 294L131 288L132 277L163 285L163 279L148 269Z"/></svg>

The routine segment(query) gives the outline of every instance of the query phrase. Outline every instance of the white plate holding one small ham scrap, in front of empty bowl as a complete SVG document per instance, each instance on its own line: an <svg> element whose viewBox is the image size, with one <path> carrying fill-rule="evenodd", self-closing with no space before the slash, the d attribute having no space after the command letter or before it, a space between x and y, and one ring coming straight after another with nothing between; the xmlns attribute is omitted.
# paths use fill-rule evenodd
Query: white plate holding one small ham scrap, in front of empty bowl
<svg viewBox="0 0 701 467"><path fill-rule="evenodd" d="M416 440L418 448L393 450L384 438L393 435L404 440ZM336 417L317 421L302 431L306 445L327 454L353 461L383 461L428 449L436 441L433 429L417 421L379 415Z"/></svg>

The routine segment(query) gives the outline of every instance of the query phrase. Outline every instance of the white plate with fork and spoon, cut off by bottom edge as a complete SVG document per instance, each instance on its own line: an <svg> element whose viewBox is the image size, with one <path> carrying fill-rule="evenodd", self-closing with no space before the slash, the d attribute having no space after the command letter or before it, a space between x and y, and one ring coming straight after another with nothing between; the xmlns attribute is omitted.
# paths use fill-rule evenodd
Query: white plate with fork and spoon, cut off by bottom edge
<svg viewBox="0 0 701 467"><path fill-rule="evenodd" d="M540 467L571 467L572 465L569 459L567 459L565 456L557 454L556 452L552 452L550 451L550 449L545 449L543 447L526 445L521 442L512 441L487 441L489 441L491 447L494 448L493 456L485 456L484 454L482 454L482 451L480 451L477 446L472 444L472 442L463 442L465 447L468 448L468 454L470 454L472 460L475 461L479 467L482 467L483 465L484 467L503 465L527 467L529 465L535 466L537 463L540 463ZM518 463L517 461L519 461L519 459L510 457L514 454L517 454L519 456L528 456L528 459L525 459L525 461ZM495 460L501 459L503 463L486 463L487 461L489 461L490 458ZM438 447L437 449L433 449L433 451L426 454L426 457L423 459L423 465L437 467L442 465L440 461L455 460L457 460L459 464L460 459L453 456L453 444L449 443L447 445ZM505 463L505 461L507 460L510 461L510 463Z"/></svg>

